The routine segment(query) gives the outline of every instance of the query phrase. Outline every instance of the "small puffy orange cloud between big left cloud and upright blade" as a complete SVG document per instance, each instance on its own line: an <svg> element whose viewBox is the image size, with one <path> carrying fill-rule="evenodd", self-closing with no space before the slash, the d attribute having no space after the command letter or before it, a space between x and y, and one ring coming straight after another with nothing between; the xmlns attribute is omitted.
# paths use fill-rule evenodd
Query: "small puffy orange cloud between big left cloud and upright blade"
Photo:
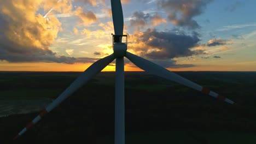
<svg viewBox="0 0 256 144"><path fill-rule="evenodd" d="M77 9L75 9L74 15L79 17L79 24L84 26L89 26L97 21L97 17L92 11L84 11L81 7L77 7Z"/></svg>

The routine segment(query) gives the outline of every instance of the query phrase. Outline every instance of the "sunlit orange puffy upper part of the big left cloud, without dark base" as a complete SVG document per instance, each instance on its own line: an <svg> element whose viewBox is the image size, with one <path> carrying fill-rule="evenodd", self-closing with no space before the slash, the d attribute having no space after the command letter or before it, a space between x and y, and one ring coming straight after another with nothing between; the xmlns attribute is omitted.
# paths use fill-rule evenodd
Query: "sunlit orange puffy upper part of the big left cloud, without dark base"
<svg viewBox="0 0 256 144"><path fill-rule="evenodd" d="M57 37L61 30L61 23L55 17L46 20L36 12L40 6L40 1L11 1L0 3L0 12L8 16L8 29L5 29L4 36L12 44L21 47L34 47L35 49L49 50L50 44ZM30 8L27 8L30 5ZM22 49L11 47L12 50ZM28 52L28 51L27 51Z"/></svg>

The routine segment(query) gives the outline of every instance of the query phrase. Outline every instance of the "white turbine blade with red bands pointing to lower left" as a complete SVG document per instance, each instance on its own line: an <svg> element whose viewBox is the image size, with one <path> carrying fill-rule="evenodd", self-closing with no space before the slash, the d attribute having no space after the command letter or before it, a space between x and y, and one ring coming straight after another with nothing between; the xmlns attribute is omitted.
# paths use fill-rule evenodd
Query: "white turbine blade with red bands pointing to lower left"
<svg viewBox="0 0 256 144"><path fill-rule="evenodd" d="M114 55L110 55L107 57L104 57L94 64L92 64L88 69L86 69L71 85L65 89L64 92L61 93L59 97L57 97L53 103L48 105L42 112L39 113L39 115L34 118L30 123L27 124L27 126L20 131L20 133L14 137L16 139L17 137L24 134L32 125L36 124L40 119L48 112L53 110L56 106L58 106L63 100L67 99L70 95L72 95L75 91L77 91L78 88L82 87L86 82L88 82L93 76L95 76L97 73L100 73L102 69L104 69L110 62L114 60Z"/></svg>

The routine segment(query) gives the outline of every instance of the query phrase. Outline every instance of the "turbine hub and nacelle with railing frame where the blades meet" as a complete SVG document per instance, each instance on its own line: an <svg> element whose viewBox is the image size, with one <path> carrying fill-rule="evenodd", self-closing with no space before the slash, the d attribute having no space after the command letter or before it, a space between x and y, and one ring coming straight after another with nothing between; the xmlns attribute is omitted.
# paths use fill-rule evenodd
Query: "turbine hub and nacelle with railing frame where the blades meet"
<svg viewBox="0 0 256 144"><path fill-rule="evenodd" d="M124 57L126 55L126 50L127 50L127 35L113 35L114 56Z"/></svg>

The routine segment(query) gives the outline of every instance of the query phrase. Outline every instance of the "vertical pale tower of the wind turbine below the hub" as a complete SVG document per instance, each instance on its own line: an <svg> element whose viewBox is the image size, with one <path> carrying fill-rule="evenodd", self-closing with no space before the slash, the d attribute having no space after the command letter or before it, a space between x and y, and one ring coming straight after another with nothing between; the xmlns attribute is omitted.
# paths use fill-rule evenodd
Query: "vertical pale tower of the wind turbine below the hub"
<svg viewBox="0 0 256 144"><path fill-rule="evenodd" d="M124 57L116 58L115 64L115 142L125 142Z"/></svg>

